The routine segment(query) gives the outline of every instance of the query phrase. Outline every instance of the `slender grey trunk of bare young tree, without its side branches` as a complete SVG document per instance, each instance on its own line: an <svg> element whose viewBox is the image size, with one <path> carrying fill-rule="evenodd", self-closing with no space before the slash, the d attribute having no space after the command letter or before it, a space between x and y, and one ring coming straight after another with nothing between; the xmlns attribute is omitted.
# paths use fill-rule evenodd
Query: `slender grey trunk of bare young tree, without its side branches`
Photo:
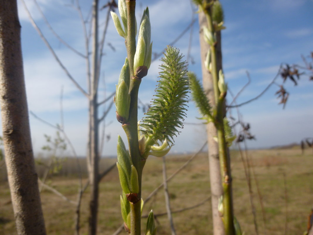
<svg viewBox="0 0 313 235"><path fill-rule="evenodd" d="M99 81L99 53L98 53L98 0L93 2L93 48L92 48L92 75L90 84L89 100L89 127L90 127L90 150L89 152L89 180L91 195L89 201L89 235L97 233L97 214L99 199L99 137L98 137L98 81Z"/></svg>

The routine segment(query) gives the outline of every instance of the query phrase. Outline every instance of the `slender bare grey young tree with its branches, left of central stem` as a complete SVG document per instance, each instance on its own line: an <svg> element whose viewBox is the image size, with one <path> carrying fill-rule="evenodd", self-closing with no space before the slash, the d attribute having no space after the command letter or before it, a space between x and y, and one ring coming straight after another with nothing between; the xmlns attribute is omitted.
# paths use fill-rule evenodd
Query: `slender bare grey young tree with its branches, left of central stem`
<svg viewBox="0 0 313 235"><path fill-rule="evenodd" d="M78 0L73 1L73 7L77 10L84 30L85 39L85 53L80 53L73 47L65 43L52 29L51 25L48 23L46 18L46 23L49 29L56 35L61 43L67 46L70 50L74 51L78 56L81 56L86 61L86 80L87 80L87 91L80 86L80 84L75 80L75 78L70 74L69 70L61 62L57 54L55 53L52 46L49 44L48 40L44 37L41 30L38 28L37 24L34 22L32 16L30 15L26 4L22 1L29 18L37 30L40 37L44 40L45 44L53 54L54 58L59 63L60 67L64 70L68 78L74 83L74 85L79 89L79 91L88 99L88 144L87 144L87 169L89 175L89 185L90 185L90 201L89 201L89 228L88 234L95 235L97 231L97 213L98 213L98 201L99 201L99 182L104 174L99 173L99 161L100 161L100 144L99 144L99 129L101 122L105 119L113 102L107 107L103 114L99 114L98 110L105 102L113 98L114 93L112 93L108 98L103 101L98 100L99 91L99 81L100 81L100 71L101 71L101 61L104 55L104 43L106 31L109 23L110 10L117 7L115 0L108 1L102 8L108 9L105 26L103 32L99 34L99 0L92 1L92 13L91 18L85 19L83 11L80 7ZM35 1L37 4L37 2ZM38 5L38 4L37 4ZM39 8L39 7L38 7ZM39 8L40 10L40 8ZM40 10L41 11L41 10ZM90 23L91 22L91 23ZM91 24L91 25L90 25ZM89 35L87 27L91 26L91 34ZM99 40L100 39L100 40ZM92 44L90 46L90 43Z"/></svg>

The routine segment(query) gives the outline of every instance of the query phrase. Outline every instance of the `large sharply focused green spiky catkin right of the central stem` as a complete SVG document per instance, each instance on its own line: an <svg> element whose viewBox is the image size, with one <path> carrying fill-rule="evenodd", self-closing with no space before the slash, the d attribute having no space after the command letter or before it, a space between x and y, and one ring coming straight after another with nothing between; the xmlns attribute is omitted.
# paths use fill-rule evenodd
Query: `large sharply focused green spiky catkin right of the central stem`
<svg viewBox="0 0 313 235"><path fill-rule="evenodd" d="M156 98L140 124L141 131L152 136L154 143L167 139L172 144L173 136L179 133L177 128L183 128L189 81L186 61L182 61L182 57L177 48L168 46L161 59L163 64L160 66L162 71L159 73Z"/></svg>

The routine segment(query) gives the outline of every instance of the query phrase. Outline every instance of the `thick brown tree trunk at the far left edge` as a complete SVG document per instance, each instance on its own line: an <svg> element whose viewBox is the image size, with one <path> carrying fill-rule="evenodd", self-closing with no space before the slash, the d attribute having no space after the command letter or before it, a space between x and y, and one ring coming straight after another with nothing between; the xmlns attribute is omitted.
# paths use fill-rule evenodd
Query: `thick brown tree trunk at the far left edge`
<svg viewBox="0 0 313 235"><path fill-rule="evenodd" d="M30 137L17 3L0 0L0 101L5 162L19 235L45 235Z"/></svg>

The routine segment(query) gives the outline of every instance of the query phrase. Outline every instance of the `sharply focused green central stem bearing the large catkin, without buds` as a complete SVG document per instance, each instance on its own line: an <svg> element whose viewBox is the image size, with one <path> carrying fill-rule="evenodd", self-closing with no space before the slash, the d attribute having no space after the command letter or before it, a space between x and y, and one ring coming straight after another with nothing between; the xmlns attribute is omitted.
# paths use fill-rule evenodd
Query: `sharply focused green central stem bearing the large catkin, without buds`
<svg viewBox="0 0 313 235"><path fill-rule="evenodd" d="M128 145L133 165L136 167L138 173L139 193L141 198L141 176L142 169L146 160L141 159L138 144L138 131L137 131L137 116L138 116L138 90L141 79L134 77L134 56L136 53L136 32L135 32L135 7L136 0L126 0L127 8L127 38L125 41L127 57L130 66L131 83L130 83L130 115L128 123L123 125L123 129L128 138ZM131 204L131 235L140 235L141 232L141 201L134 205Z"/></svg>

